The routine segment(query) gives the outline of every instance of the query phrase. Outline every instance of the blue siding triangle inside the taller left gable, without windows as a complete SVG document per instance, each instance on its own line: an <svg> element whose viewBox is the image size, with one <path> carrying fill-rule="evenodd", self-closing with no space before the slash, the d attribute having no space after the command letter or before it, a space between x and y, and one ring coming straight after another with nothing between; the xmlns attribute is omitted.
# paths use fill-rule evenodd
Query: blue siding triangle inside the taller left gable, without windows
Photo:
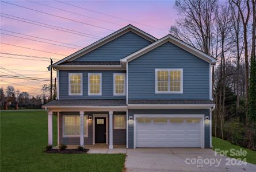
<svg viewBox="0 0 256 172"><path fill-rule="evenodd" d="M143 37L128 32L74 61L119 61L150 44L151 42Z"/></svg>

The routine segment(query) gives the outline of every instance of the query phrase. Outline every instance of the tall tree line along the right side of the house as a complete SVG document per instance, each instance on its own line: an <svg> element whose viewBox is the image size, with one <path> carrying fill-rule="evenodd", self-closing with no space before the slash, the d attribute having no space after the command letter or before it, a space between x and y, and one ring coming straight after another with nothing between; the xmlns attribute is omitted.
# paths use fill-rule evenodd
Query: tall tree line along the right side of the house
<svg viewBox="0 0 256 172"><path fill-rule="evenodd" d="M255 0L176 0L170 34L217 59L212 134L256 149Z"/></svg>

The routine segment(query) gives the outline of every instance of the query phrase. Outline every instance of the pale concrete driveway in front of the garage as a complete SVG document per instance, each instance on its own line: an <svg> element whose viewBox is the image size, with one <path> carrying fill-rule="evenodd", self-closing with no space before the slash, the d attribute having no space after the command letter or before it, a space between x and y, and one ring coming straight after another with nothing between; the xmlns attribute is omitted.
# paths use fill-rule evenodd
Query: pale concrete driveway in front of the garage
<svg viewBox="0 0 256 172"><path fill-rule="evenodd" d="M243 165L202 148L128 149L125 167L127 171L256 171L256 165Z"/></svg>

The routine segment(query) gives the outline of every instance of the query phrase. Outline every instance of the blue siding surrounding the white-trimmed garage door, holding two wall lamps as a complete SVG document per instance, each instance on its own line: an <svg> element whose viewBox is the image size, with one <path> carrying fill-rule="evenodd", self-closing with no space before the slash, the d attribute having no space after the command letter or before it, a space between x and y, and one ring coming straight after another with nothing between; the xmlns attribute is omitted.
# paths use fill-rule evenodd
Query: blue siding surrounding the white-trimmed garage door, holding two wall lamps
<svg viewBox="0 0 256 172"><path fill-rule="evenodd" d="M129 110L128 116L139 115L139 114L204 114L209 116L209 110ZM134 118L133 118L134 119ZM128 123L128 148L133 148L133 123ZM210 147L210 126L209 122L205 122L204 126L204 146L205 148Z"/></svg>

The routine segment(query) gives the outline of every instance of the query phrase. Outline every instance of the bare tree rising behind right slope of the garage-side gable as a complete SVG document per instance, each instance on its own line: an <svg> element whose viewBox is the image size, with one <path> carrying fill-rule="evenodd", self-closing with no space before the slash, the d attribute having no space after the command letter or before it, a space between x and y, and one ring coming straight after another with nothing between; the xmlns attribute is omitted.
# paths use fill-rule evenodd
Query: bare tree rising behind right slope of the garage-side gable
<svg viewBox="0 0 256 172"><path fill-rule="evenodd" d="M188 44L210 54L212 25L217 0L177 0L174 8L181 18L170 33ZM212 54L213 55L213 54Z"/></svg>

